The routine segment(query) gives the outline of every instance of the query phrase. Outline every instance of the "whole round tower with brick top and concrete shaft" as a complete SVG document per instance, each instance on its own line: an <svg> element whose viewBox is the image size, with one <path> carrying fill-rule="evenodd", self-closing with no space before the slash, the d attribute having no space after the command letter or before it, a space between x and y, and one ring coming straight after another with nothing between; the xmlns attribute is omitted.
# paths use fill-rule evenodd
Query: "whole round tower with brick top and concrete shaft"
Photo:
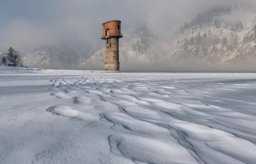
<svg viewBox="0 0 256 164"><path fill-rule="evenodd" d="M105 70L119 71L119 38L123 38L121 21L111 20L102 23L101 39L105 40Z"/></svg>

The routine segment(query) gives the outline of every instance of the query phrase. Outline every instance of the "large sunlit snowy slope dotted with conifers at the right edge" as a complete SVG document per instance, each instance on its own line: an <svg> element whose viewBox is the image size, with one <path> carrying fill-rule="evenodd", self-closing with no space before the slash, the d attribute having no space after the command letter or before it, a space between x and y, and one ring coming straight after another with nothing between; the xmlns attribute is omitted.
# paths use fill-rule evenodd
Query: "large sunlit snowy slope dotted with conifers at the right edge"
<svg viewBox="0 0 256 164"><path fill-rule="evenodd" d="M195 56L208 63L256 62L256 14L243 8L216 10L207 11L181 27L181 34L172 43L172 56ZM237 14L244 17L234 19Z"/></svg>

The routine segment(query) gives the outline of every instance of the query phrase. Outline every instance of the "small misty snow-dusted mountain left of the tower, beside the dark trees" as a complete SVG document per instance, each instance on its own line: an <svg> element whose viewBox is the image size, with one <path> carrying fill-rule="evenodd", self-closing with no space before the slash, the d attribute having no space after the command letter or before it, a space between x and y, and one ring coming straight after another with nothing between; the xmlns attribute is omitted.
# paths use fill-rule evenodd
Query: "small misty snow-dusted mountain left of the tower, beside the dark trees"
<svg viewBox="0 0 256 164"><path fill-rule="evenodd" d="M29 66L69 69L79 65L80 56L68 46L47 45L31 51L23 58Z"/></svg>

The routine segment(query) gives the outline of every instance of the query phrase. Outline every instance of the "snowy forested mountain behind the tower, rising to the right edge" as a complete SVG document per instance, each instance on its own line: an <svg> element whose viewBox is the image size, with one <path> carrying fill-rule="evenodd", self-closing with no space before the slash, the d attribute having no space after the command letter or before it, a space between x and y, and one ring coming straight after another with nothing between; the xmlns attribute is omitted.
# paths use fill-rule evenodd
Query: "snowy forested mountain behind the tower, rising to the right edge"
<svg viewBox="0 0 256 164"><path fill-rule="evenodd" d="M163 31L164 32L164 31ZM215 6L183 23L168 40L153 36L146 27L127 35L120 46L122 67L131 64L152 67L184 67L193 61L205 65L256 62L256 12L246 3ZM174 37L173 37L174 36ZM168 37L167 37L168 38ZM83 64L100 63L104 49ZM194 65L198 67L199 65Z"/></svg>

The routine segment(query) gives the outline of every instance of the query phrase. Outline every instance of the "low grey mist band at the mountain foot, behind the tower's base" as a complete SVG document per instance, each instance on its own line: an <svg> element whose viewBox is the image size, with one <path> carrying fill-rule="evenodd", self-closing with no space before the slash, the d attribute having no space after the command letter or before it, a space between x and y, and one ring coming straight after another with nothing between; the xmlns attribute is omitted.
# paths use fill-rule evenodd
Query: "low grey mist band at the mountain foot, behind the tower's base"
<svg viewBox="0 0 256 164"><path fill-rule="evenodd" d="M104 70L104 65L88 64L82 67L86 70ZM74 68L79 69L79 68ZM141 64L139 62L120 62L120 72L227 72L227 73L253 73L256 72L254 62L242 60L238 63L207 64L202 60L188 58L179 63L177 59L172 61L158 61L154 64Z"/></svg>

